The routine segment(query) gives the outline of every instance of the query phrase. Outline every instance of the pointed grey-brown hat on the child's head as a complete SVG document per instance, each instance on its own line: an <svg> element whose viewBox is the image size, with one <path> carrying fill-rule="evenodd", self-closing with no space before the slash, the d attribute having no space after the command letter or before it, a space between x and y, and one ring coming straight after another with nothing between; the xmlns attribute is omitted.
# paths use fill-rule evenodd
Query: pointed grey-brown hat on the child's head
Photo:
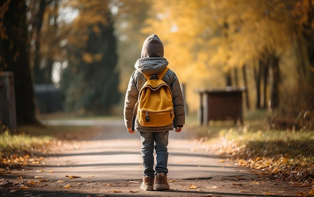
<svg viewBox="0 0 314 197"><path fill-rule="evenodd" d="M155 34L146 38L143 43L141 58L164 57L164 45Z"/></svg>

